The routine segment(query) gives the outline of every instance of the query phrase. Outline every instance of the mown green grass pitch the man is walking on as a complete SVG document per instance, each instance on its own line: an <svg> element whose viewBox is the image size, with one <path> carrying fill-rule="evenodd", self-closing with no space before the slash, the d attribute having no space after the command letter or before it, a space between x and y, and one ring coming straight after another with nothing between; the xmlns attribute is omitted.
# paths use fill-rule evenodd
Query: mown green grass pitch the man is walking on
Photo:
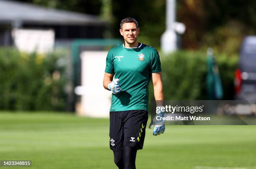
<svg viewBox="0 0 256 169"><path fill-rule="evenodd" d="M0 112L0 160L32 160L30 169L115 169L108 126L108 119L72 114ZM137 169L256 169L256 126L152 132L146 129Z"/></svg>

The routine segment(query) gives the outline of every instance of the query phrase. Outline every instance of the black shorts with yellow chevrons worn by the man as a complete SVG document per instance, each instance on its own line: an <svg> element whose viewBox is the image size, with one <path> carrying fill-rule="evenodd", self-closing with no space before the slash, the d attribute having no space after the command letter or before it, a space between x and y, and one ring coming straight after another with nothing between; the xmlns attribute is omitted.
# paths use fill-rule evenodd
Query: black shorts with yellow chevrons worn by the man
<svg viewBox="0 0 256 169"><path fill-rule="evenodd" d="M146 110L111 111L110 149L120 151L123 150L123 146L142 149L147 121Z"/></svg>

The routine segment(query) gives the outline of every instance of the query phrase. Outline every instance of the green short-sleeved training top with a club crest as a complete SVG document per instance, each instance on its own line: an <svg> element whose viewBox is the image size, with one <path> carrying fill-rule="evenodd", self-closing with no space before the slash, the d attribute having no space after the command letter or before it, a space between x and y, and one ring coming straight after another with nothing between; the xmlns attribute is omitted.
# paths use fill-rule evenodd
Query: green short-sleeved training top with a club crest
<svg viewBox="0 0 256 169"><path fill-rule="evenodd" d="M110 49L106 59L106 73L119 78L121 92L112 94L110 111L148 111L148 83L151 73L161 72L159 54L143 43L136 48L124 44Z"/></svg>

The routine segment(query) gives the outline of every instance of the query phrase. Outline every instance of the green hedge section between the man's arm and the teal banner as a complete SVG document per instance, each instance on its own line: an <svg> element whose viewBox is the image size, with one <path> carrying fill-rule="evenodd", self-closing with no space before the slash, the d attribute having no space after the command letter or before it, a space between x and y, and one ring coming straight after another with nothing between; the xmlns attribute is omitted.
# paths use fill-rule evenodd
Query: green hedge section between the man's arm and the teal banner
<svg viewBox="0 0 256 169"><path fill-rule="evenodd" d="M180 51L162 59L166 100L197 100L205 95L206 57Z"/></svg>

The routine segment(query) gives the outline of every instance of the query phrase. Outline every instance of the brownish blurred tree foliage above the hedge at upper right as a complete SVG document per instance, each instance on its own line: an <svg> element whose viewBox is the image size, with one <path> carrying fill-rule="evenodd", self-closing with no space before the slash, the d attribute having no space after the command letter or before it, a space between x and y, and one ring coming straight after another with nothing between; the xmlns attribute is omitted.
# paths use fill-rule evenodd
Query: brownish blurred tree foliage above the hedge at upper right
<svg viewBox="0 0 256 169"><path fill-rule="evenodd" d="M256 33L256 1L180 0L177 18L187 27L184 48L212 48L221 53L238 53L242 39Z"/></svg>

